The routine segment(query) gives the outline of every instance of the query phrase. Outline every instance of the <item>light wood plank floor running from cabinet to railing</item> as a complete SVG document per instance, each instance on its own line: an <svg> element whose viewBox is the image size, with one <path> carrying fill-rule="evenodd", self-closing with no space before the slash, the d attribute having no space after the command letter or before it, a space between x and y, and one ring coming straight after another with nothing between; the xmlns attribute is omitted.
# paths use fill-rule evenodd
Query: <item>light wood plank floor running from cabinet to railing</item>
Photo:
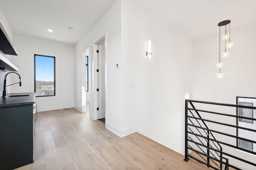
<svg viewBox="0 0 256 170"><path fill-rule="evenodd" d="M209 170L138 133L120 138L74 108L38 113L34 163L16 170Z"/></svg>

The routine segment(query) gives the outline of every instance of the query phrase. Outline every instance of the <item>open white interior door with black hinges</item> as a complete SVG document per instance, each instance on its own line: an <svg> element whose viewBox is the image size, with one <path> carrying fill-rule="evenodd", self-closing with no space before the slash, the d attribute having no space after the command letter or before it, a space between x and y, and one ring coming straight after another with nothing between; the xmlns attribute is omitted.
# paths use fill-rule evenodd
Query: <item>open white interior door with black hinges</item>
<svg viewBox="0 0 256 170"><path fill-rule="evenodd" d="M98 119L105 118L105 46L98 45Z"/></svg>

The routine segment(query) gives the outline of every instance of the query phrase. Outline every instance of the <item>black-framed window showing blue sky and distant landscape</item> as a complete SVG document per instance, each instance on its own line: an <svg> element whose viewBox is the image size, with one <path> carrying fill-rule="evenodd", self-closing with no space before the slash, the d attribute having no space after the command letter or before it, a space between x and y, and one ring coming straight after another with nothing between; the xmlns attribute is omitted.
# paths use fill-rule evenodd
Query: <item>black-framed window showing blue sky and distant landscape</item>
<svg viewBox="0 0 256 170"><path fill-rule="evenodd" d="M55 57L34 55L36 97L55 96Z"/></svg>

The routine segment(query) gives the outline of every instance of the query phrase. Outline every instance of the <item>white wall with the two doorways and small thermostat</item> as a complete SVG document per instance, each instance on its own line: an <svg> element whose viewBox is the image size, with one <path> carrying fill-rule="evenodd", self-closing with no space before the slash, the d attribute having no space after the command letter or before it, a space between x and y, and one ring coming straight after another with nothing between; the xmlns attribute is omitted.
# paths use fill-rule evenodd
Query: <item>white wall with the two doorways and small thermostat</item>
<svg viewBox="0 0 256 170"><path fill-rule="evenodd" d="M96 74L96 61L94 60L95 49L93 44L100 38L105 37L106 41L106 77L108 78L106 93L107 108L106 127L112 129L121 129L121 71L116 69L115 64L121 60L121 1L117 0L108 11L98 20L94 26L80 39L75 46L75 107L80 110L82 106L82 52L90 47L90 68L91 68L91 86L89 89L92 92L90 96L90 117L96 112L96 80L92 79L92 75Z"/></svg>

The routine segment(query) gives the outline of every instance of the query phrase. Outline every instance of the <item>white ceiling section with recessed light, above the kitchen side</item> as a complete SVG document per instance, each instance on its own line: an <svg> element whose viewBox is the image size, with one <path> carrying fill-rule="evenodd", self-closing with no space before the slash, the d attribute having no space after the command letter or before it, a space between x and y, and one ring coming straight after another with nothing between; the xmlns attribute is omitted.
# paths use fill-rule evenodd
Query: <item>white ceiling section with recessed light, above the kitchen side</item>
<svg viewBox="0 0 256 170"><path fill-rule="evenodd" d="M115 0L0 0L16 34L76 44ZM72 27L73 30L68 30ZM47 30L52 29L50 33Z"/></svg>

